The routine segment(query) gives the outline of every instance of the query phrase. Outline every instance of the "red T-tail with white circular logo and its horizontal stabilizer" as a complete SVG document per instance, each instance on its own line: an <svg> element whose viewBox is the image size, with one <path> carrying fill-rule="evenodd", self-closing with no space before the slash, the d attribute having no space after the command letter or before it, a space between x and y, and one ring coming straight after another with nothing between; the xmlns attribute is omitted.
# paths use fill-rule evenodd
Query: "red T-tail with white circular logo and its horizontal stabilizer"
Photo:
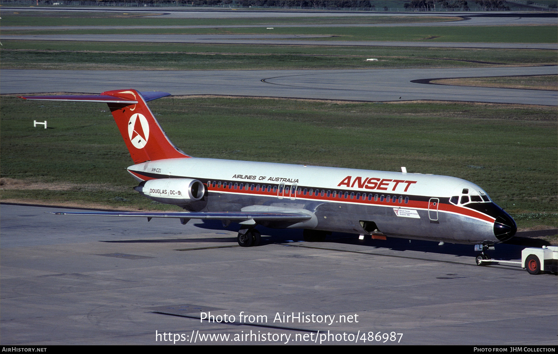
<svg viewBox="0 0 558 354"><path fill-rule="evenodd" d="M190 157L172 144L153 117L146 102L168 96L164 92L105 91L100 95L28 96L30 100L62 100L107 103L134 163Z"/></svg>

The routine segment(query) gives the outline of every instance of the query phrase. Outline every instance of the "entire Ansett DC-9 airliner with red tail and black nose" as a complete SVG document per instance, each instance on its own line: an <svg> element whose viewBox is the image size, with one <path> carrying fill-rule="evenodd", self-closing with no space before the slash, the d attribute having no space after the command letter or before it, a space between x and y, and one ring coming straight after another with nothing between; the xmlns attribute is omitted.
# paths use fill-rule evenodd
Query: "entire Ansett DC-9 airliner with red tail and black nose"
<svg viewBox="0 0 558 354"><path fill-rule="evenodd" d="M180 212L56 212L64 215L169 217L240 224L238 244L261 242L257 225L304 229L305 241L333 231L373 239L401 237L474 244L482 251L510 240L515 221L482 188L449 176L247 162L188 156L171 143L147 102L169 96L133 89L100 95L26 96L28 100L107 103L134 164L134 187ZM482 261L478 261L482 263Z"/></svg>

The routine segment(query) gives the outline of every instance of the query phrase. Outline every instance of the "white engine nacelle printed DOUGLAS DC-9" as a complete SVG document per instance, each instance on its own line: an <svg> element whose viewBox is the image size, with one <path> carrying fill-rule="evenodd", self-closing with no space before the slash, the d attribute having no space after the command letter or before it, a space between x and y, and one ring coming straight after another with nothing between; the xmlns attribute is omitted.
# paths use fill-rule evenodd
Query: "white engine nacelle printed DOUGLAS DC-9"
<svg viewBox="0 0 558 354"><path fill-rule="evenodd" d="M161 178L141 182L134 190L165 204L185 205L204 197L204 184L188 178Z"/></svg>

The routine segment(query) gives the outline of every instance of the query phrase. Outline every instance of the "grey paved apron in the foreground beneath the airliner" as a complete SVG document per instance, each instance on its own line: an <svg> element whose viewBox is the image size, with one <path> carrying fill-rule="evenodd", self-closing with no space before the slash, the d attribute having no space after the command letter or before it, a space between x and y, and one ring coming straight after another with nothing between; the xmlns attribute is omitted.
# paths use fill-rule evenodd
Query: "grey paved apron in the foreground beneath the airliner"
<svg viewBox="0 0 558 354"><path fill-rule="evenodd" d="M262 229L262 246L240 248L234 225L44 213L60 210L1 206L2 345L169 344L156 331L198 344L211 343L200 334L269 343L233 341L250 331L304 344L313 343L304 334L328 330L353 334L353 343L356 334L395 332L407 345L556 344L555 275L474 265L470 245L341 234L304 243L300 231ZM492 256L520 250L497 245ZM235 323L200 323L202 312ZM283 312L314 322L274 322ZM267 322L240 323L241 313ZM334 322L316 322L326 315ZM325 343L349 344L335 338Z"/></svg>

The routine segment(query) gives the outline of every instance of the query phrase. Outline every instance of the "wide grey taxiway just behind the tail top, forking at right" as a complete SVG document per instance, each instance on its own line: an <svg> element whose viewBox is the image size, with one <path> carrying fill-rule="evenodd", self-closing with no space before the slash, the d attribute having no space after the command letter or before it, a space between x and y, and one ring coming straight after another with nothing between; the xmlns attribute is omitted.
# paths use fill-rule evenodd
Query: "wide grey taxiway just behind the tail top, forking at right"
<svg viewBox="0 0 558 354"><path fill-rule="evenodd" d="M100 93L133 88L173 95L557 105L556 91L427 84L429 79L437 78L556 75L557 72L557 66L376 70L1 70L0 93Z"/></svg>

